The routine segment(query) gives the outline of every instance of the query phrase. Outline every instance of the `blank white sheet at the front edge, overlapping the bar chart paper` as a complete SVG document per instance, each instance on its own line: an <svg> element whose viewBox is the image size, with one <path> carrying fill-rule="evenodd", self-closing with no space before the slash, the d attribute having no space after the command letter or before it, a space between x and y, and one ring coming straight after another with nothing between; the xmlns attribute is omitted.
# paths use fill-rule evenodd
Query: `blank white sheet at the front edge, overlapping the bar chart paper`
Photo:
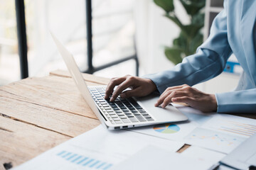
<svg viewBox="0 0 256 170"><path fill-rule="evenodd" d="M199 161L189 157L183 157L182 154L170 153L166 149L149 146L137 154L132 155L129 159L121 164L114 166L112 170L131 170L131 169L146 169L146 170L206 170L212 166L209 162Z"/></svg>

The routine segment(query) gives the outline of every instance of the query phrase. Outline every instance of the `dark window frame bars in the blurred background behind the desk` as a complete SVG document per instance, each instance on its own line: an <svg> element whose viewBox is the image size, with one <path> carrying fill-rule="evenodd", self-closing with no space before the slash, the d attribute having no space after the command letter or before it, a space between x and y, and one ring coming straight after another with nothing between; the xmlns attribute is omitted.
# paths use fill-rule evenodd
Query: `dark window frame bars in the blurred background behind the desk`
<svg viewBox="0 0 256 170"><path fill-rule="evenodd" d="M127 60L135 60L136 62L136 75L139 76L139 60L137 57L136 45L134 40L135 54L132 56L124 57L114 62L103 64L100 67L94 67L92 64L92 1L85 0L86 8L86 28L87 28L87 64L88 69L82 71L84 73L93 74L101 69L112 67L116 64L126 62ZM24 0L15 0L16 6L16 21L17 21L17 35L18 35L18 55L21 69L21 79L28 77L28 46L26 39L26 20L25 20L25 6Z"/></svg>

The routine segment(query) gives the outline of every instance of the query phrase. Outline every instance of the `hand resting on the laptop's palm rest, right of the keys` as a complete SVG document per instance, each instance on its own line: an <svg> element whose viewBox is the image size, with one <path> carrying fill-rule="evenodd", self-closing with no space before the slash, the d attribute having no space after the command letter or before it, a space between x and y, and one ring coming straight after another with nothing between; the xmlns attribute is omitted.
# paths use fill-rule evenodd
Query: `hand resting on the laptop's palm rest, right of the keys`
<svg viewBox="0 0 256 170"><path fill-rule="evenodd" d="M161 105L162 108L165 108L171 102L187 103L203 112L217 111L217 101L214 94L205 94L186 84L167 88L155 106Z"/></svg>

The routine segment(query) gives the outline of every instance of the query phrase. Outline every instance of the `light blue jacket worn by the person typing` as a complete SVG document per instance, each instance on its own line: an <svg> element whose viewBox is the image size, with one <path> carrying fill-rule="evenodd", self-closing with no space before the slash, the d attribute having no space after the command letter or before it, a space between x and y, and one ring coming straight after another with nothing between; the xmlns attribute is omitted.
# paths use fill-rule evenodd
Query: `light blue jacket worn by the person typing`
<svg viewBox="0 0 256 170"><path fill-rule="evenodd" d="M218 76L232 53L244 72L235 91L215 94L218 113L256 113L256 1L227 0L206 42L174 69L149 74L160 93L169 86L193 86Z"/></svg>

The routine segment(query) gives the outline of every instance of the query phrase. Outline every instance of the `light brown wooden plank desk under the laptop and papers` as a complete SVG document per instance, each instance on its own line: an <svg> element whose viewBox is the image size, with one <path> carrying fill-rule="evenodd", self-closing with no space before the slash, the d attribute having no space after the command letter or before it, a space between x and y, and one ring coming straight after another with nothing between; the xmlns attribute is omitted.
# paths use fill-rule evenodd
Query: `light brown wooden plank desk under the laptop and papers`
<svg viewBox="0 0 256 170"><path fill-rule="evenodd" d="M83 77L90 86L109 81L90 74ZM22 164L100 125L68 72L60 70L1 86L0 115L0 169L4 163Z"/></svg>

